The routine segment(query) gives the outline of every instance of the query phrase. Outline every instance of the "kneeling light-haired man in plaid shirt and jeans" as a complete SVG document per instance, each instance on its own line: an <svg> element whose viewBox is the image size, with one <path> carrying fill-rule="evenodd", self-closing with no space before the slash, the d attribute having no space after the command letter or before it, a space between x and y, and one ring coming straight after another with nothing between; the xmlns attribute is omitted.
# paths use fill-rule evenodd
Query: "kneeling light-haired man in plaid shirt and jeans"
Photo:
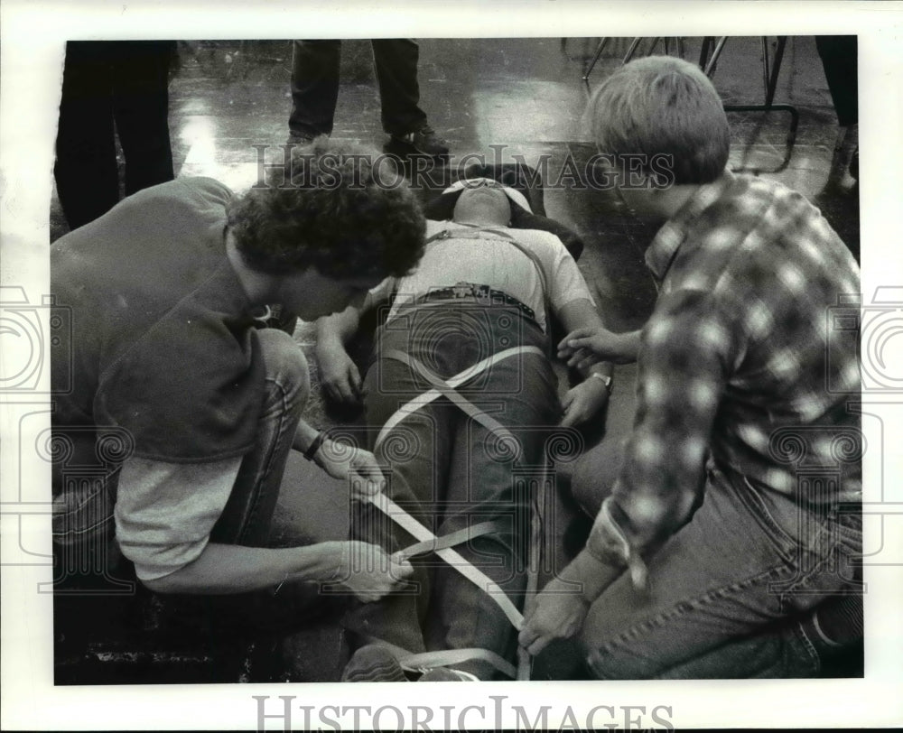
<svg viewBox="0 0 903 733"><path fill-rule="evenodd" d="M858 268L800 194L726 170L721 100L692 64L628 64L591 115L622 198L666 219L646 253L659 293L641 331L560 346L636 360L636 415L575 472L598 515L520 642L580 631L605 679L817 675L861 636L860 368L829 320Z"/></svg>

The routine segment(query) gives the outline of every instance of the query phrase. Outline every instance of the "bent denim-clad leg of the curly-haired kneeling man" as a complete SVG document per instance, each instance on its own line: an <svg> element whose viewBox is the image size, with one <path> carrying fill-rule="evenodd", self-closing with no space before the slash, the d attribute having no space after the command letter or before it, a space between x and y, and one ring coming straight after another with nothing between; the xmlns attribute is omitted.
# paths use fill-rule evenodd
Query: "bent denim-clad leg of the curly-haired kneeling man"
<svg viewBox="0 0 903 733"><path fill-rule="evenodd" d="M278 329L259 330L256 336L266 365L256 445L242 460L228 504L211 534L214 542L251 547L269 541L285 461L311 388L307 360L290 336Z"/></svg>

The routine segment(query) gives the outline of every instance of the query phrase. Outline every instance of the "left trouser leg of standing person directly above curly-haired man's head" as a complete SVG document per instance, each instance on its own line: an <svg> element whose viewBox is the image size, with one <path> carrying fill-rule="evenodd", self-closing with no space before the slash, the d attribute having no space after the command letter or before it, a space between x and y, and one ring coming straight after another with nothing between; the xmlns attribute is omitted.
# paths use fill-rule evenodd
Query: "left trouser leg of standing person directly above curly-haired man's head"
<svg viewBox="0 0 903 733"><path fill-rule="evenodd" d="M290 140L330 135L339 100L340 41L294 41Z"/></svg>

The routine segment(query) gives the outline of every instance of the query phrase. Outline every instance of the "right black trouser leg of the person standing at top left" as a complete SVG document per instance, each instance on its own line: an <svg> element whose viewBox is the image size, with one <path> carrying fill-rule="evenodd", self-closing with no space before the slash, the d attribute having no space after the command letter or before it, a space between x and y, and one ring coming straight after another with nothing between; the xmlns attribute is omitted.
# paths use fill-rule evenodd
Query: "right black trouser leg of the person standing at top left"
<svg viewBox="0 0 903 733"><path fill-rule="evenodd" d="M115 42L113 114L126 158L126 196L172 181L169 70L175 44Z"/></svg>

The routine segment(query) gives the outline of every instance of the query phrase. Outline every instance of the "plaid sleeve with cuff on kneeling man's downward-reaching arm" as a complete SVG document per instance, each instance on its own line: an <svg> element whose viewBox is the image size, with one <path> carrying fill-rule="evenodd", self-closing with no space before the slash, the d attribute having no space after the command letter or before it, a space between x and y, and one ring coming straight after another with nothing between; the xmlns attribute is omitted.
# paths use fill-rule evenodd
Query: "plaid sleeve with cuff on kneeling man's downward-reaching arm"
<svg viewBox="0 0 903 733"><path fill-rule="evenodd" d="M645 582L642 553L674 534L697 506L739 338L703 292L667 296L643 329L633 431L587 542L596 559L628 566L635 585Z"/></svg>

